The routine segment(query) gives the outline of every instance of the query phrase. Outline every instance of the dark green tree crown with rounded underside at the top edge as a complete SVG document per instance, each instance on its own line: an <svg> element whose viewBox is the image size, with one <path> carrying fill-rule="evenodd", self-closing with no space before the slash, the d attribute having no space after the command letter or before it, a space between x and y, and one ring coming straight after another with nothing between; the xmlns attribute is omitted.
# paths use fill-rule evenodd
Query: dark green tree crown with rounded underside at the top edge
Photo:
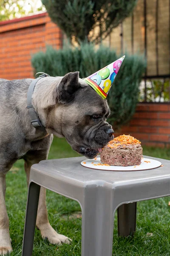
<svg viewBox="0 0 170 256"><path fill-rule="evenodd" d="M130 13L137 0L42 0L51 20L77 43L99 43Z"/></svg>

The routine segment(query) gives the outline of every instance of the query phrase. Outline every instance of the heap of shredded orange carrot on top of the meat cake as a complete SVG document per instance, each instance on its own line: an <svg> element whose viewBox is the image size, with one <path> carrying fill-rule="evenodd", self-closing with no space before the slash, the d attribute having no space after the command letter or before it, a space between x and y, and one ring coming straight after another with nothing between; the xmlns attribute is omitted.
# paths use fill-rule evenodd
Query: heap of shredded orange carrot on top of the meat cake
<svg viewBox="0 0 170 256"><path fill-rule="evenodd" d="M111 140L108 144L109 148L116 148L119 145L122 144L140 144L141 142L137 139L135 139L133 136L129 135L120 135L119 137L114 138Z"/></svg>

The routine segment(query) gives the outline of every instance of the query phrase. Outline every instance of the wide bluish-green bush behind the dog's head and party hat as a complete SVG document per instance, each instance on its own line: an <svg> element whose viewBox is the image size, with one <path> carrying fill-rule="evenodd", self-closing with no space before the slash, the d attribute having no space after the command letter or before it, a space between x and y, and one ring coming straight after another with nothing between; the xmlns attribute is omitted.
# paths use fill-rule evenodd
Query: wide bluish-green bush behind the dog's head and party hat
<svg viewBox="0 0 170 256"><path fill-rule="evenodd" d="M79 48L60 50L47 47L46 52L38 52L32 58L35 73L45 72L50 76L64 76L68 72L79 71L80 77L90 76L117 58L116 52L108 47L96 49L92 44L82 44ZM139 97L139 82L145 69L142 57L126 54L122 67L108 95L111 108L109 122L117 128L130 120L135 112Z"/></svg>

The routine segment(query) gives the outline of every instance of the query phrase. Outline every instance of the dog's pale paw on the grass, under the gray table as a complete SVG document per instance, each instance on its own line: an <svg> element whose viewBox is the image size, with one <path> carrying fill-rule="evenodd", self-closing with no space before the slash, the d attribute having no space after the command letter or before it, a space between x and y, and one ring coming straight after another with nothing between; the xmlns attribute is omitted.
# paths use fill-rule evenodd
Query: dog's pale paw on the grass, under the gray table
<svg viewBox="0 0 170 256"><path fill-rule="evenodd" d="M39 227L41 236L43 239L48 239L48 241L51 244L70 244L71 239L69 239L67 236L63 236L58 234L52 227L51 225L48 224L43 224L41 227Z"/></svg>

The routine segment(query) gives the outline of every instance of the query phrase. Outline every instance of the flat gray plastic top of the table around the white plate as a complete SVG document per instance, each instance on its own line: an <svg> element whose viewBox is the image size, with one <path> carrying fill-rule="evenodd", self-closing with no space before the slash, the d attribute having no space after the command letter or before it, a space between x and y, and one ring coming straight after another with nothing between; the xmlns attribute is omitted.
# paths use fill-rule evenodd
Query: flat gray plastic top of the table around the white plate
<svg viewBox="0 0 170 256"><path fill-rule="evenodd" d="M34 164L31 169L56 178L74 180L80 183L102 180L108 183L133 183L155 179L170 179L170 160L155 157L147 157L159 160L162 167L144 171L115 172L89 169L81 166L81 161L85 157L71 157L54 160L43 160L39 164Z"/></svg>

